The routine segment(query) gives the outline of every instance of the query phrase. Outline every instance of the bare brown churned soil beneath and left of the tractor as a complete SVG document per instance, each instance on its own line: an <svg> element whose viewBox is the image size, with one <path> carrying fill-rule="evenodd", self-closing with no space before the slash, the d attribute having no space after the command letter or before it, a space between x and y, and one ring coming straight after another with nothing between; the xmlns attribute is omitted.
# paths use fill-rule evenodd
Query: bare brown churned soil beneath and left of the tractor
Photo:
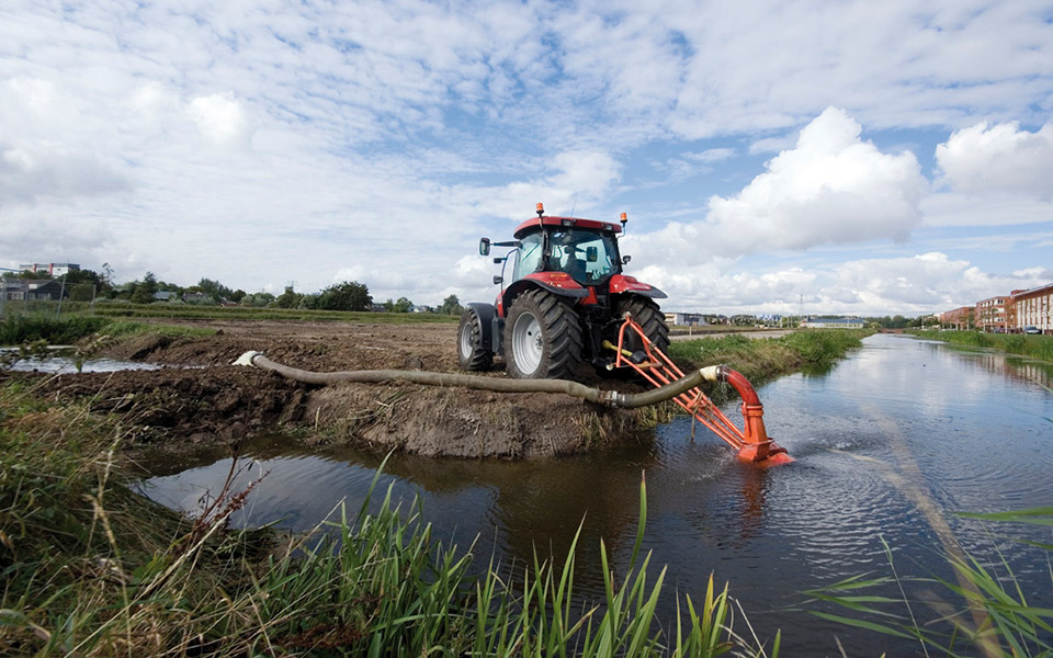
<svg viewBox="0 0 1053 658"><path fill-rule="evenodd" d="M176 446L234 443L281 429L307 443L354 443L429 456L531 458L580 453L619 438L632 440L639 423L638 412L554 394L405 384L322 388L228 365L242 352L257 350L305 370L458 372L456 325L452 324L166 324L210 327L219 333L174 339L140 336L112 344L106 356L173 367L61 375L43 384L45 393L87 398L95 410L122 415L137 444ZM489 375L503 377L500 368L498 364ZM581 376L591 385L614 385L599 381L587 368Z"/></svg>

